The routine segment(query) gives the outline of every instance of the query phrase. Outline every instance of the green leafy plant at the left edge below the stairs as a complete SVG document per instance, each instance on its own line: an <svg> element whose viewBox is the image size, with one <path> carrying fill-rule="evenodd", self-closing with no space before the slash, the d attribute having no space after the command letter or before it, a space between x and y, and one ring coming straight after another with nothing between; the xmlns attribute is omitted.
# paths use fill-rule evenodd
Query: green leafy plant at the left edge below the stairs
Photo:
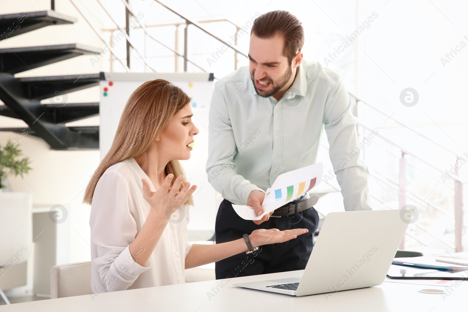
<svg viewBox="0 0 468 312"><path fill-rule="evenodd" d="M8 140L7 145L0 145L0 190L5 188L2 181L7 179L7 175L20 175L28 173L31 168L29 167L29 158L21 158L21 150L17 145Z"/></svg>

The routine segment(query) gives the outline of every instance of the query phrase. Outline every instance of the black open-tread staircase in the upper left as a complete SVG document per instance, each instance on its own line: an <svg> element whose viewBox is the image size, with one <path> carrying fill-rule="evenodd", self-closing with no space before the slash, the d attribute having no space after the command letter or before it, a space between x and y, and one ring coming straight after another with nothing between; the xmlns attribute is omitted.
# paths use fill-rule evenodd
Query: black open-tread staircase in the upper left
<svg viewBox="0 0 468 312"><path fill-rule="evenodd" d="M0 15L0 37L6 40L45 26L73 24L77 19L55 11ZM15 25L20 27L15 29ZM29 134L52 149L99 148L99 127L66 127L65 123L99 114L99 103L41 104L41 100L99 85L99 73L15 78L21 73L69 58L99 53L82 44L0 49L0 115L22 119ZM22 132L24 128L0 128Z"/></svg>

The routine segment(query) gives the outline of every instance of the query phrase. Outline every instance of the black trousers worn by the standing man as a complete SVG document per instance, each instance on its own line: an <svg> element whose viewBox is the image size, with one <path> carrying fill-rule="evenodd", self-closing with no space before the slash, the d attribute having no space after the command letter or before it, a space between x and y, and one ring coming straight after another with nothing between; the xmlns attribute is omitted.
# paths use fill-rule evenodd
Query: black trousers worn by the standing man
<svg viewBox="0 0 468 312"><path fill-rule="evenodd" d="M294 215L270 220L256 225L251 220L244 220L235 213L231 202L223 200L216 215L216 243L240 239L256 229L290 230L305 228L309 232L284 243L261 246L252 254L236 254L215 264L216 279L227 277L250 276L258 274L301 270L306 268L312 252L314 232L319 223L319 216L314 207ZM255 246L254 246L255 247Z"/></svg>

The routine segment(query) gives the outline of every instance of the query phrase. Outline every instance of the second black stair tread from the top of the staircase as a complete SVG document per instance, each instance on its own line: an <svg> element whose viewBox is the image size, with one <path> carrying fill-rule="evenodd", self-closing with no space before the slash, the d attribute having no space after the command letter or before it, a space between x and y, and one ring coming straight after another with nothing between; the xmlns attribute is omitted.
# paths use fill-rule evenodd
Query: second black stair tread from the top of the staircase
<svg viewBox="0 0 468 312"><path fill-rule="evenodd" d="M99 52L98 48L84 44L54 44L0 49L0 72L21 73L69 58Z"/></svg>

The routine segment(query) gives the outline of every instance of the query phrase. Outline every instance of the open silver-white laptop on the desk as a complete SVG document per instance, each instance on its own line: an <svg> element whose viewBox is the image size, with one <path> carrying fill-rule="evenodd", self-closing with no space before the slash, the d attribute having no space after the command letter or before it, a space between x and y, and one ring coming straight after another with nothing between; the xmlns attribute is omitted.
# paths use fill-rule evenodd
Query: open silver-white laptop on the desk
<svg viewBox="0 0 468 312"><path fill-rule="evenodd" d="M407 227L401 210L330 212L301 278L234 286L292 296L333 296L340 290L380 285Z"/></svg>

